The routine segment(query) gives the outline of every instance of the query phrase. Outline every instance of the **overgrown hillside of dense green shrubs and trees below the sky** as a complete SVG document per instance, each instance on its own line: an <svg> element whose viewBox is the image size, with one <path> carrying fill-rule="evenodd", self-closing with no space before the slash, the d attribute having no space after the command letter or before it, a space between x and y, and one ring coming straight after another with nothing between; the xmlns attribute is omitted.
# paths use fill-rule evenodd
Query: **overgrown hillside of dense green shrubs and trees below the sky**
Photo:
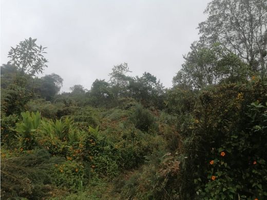
<svg viewBox="0 0 267 200"><path fill-rule="evenodd" d="M214 0L165 89L126 63L59 94L46 48L1 67L2 199L267 199L267 1ZM81 72L82 73L82 72Z"/></svg>

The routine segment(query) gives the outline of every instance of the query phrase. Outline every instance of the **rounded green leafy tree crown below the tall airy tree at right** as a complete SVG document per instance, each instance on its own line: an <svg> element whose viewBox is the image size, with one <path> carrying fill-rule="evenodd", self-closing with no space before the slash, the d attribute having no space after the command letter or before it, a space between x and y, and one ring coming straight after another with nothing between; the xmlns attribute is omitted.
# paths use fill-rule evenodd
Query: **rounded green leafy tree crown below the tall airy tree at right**
<svg viewBox="0 0 267 200"><path fill-rule="evenodd" d="M234 82L247 75L247 65L219 44L207 47L193 43L191 51L184 56L182 69L173 79L175 86L184 89L201 89L215 85L223 79Z"/></svg>

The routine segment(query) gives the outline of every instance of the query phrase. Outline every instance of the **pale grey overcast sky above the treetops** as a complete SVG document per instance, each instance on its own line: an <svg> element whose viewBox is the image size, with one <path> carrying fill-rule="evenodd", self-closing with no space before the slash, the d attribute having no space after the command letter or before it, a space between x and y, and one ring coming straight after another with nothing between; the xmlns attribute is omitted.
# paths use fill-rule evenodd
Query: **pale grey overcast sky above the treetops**
<svg viewBox="0 0 267 200"><path fill-rule="evenodd" d="M183 55L197 41L198 24L210 0L0 0L1 65L25 38L47 47L48 68L63 79L62 91L90 89L109 80L115 65L129 75L145 71L165 87L181 69ZM43 75L44 75L43 74Z"/></svg>

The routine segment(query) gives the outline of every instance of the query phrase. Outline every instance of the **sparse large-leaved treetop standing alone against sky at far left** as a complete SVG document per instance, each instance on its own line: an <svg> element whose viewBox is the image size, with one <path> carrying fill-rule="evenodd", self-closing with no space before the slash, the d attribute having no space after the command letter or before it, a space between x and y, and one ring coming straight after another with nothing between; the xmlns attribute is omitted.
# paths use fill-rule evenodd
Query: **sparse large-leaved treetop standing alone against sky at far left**
<svg viewBox="0 0 267 200"><path fill-rule="evenodd" d="M15 66L22 72L30 75L43 73L47 59L44 57L46 47L35 44L37 39L25 39L20 42L15 48L11 47L8 52L10 61L8 64Z"/></svg>

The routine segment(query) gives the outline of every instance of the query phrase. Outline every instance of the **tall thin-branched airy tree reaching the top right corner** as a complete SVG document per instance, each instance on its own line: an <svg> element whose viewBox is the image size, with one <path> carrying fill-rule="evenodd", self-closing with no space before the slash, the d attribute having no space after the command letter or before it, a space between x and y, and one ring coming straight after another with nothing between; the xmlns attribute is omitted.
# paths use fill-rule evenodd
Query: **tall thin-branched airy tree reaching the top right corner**
<svg viewBox="0 0 267 200"><path fill-rule="evenodd" d="M199 24L201 41L221 43L241 57L253 71L264 72L267 45L266 0L214 0L208 18Z"/></svg>

